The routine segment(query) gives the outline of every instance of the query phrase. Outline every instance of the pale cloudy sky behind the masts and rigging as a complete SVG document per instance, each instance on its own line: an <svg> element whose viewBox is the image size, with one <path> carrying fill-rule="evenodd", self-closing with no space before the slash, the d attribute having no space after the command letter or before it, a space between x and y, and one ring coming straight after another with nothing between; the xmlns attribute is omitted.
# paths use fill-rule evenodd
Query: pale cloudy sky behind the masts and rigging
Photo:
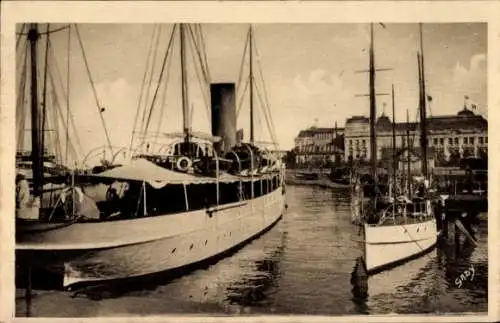
<svg viewBox="0 0 500 323"><path fill-rule="evenodd" d="M52 25L57 28L58 25ZM237 83L249 25L203 24L211 82ZM46 25L40 25L44 30ZM78 31L113 145L127 146L133 129L152 24L79 24ZM154 80L161 70L172 25L161 25ZM83 150L106 144L98 109L89 85L75 29L70 41L70 110L78 125ZM261 66L274 132L281 149L293 147L302 129L344 126L353 115L369 115L368 68L369 24L257 24L254 41L258 51L255 65ZM43 43L41 43L43 44ZM68 32L51 34L55 62L66 83ZM391 71L377 73L376 91L390 93L395 87L396 120L404 121L406 110L415 120L418 106L418 24L374 25L375 64ZM427 92L432 96L428 114L456 114L469 96L478 113L487 117L487 26L486 24L424 24L423 46ZM40 45L40 48L43 46ZM179 46L164 76L168 76L165 109L153 113L150 129L164 132L182 129ZM208 105L193 68L191 52L187 63L192 127L210 131ZM194 53L194 52L193 52ZM18 56L19 57L19 56ZM19 62L18 59L18 67ZM167 65L168 65L167 64ZM54 66L54 65L53 65ZM246 65L245 65L246 66ZM198 69L199 70L199 69ZM246 74L246 67L244 73ZM256 77L257 85L262 82ZM157 84L156 81L153 84ZM237 101L243 92L237 87ZM163 85L161 85L161 89ZM205 87L206 90L206 87ZM160 90L162 93L163 90ZM150 91L153 93L153 90ZM262 93L260 91L259 93ZM149 96L150 100L152 95ZM238 115L238 128L248 139L248 95ZM390 97L377 97L378 114L391 116ZM208 99L208 103L210 100ZM256 102L259 100L256 98ZM256 110L261 113L260 105ZM161 120L161 123L158 123ZM257 116L256 140L269 141L265 119Z"/></svg>

